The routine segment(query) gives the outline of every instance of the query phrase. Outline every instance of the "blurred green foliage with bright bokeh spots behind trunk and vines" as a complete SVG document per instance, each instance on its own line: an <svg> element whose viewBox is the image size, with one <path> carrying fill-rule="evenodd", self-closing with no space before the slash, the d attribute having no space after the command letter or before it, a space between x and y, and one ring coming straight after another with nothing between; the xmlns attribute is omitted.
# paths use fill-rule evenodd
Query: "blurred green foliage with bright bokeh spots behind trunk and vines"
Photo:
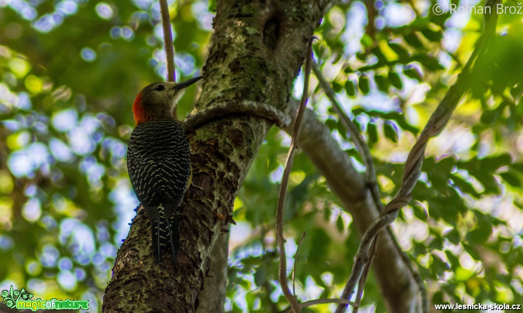
<svg viewBox="0 0 523 313"><path fill-rule="evenodd" d="M176 74L184 80L203 66L215 4L169 4ZM452 13L448 2L436 15L435 4L342 1L316 29L315 58L369 143L384 203L483 30L482 15ZM522 18L499 16L471 92L430 142L414 199L392 226L435 304L523 303ZM152 0L0 0L1 289L87 299L90 311L100 310L138 205L124 160L131 104L143 86L165 77L159 21ZM302 84L299 76L295 96ZM314 76L311 92L311 107L363 171ZM195 96L188 90L180 118ZM270 130L235 200L228 311L275 312L287 303L276 280L274 216L289 143ZM339 295L359 244L351 221L300 154L286 210L288 269L307 231L296 257L300 300ZM362 311L374 310L384 304L371 273Z"/></svg>

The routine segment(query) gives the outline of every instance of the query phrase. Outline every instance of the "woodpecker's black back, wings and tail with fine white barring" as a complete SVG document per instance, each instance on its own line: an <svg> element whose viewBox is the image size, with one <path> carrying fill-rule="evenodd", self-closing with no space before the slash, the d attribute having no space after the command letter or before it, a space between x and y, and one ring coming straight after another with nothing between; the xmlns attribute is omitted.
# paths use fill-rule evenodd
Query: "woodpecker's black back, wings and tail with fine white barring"
<svg viewBox="0 0 523 313"><path fill-rule="evenodd" d="M176 211L190 183L189 141L178 122L155 119L134 128L127 150L132 187L151 220L152 242L160 262L172 250L176 262L179 234Z"/></svg>

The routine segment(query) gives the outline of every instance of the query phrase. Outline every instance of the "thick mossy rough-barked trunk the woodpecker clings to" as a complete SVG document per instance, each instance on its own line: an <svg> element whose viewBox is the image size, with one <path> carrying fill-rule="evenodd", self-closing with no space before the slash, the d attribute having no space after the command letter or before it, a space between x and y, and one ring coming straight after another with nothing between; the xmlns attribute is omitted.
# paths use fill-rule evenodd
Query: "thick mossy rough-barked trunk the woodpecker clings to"
<svg viewBox="0 0 523 313"><path fill-rule="evenodd" d="M198 110L253 100L283 110L306 45L335 0L218 1ZM193 183L180 208L178 264L152 255L150 223L138 210L118 251L104 312L194 312L211 249L232 222L232 204L269 121L248 115L214 121L189 135Z"/></svg>

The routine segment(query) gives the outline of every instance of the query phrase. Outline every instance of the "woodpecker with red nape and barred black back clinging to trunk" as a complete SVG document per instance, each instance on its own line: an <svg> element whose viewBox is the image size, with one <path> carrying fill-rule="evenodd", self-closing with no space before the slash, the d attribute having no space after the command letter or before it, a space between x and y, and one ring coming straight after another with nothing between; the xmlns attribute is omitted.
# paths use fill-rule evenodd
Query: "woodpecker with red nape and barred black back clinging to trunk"
<svg viewBox="0 0 523 313"><path fill-rule="evenodd" d="M176 211L191 182L189 141L173 116L185 88L202 76L182 83L160 82L143 88L132 107L136 127L127 149L129 178L151 220L151 236L158 263L162 252L179 247Z"/></svg>

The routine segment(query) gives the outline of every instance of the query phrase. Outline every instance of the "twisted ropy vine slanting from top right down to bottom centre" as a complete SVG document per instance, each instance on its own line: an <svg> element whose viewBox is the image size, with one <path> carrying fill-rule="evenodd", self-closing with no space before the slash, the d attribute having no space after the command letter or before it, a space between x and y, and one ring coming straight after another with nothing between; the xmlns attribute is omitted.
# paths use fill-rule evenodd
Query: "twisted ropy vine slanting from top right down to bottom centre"
<svg viewBox="0 0 523 313"><path fill-rule="evenodd" d="M499 0L494 1L492 5L494 5L495 2L499 2ZM414 188L419 174L421 173L425 148L427 147L428 140L434 136L437 136L445 128L460 99L470 89L472 65L476 61L477 56L484 53L484 48L486 47L485 43L488 41L488 39L491 38L492 33L495 30L496 20L497 16L490 18L489 25L486 27L486 31L478 40L476 48L472 52L472 55L467 64L465 64L463 71L458 75L456 83L449 88L449 91L439 103L418 140L414 144L414 147L412 148L408 155L407 161L405 162L405 172L399 193L391 200L391 202L385 206L380 218L369 227L365 233L365 236L363 236L358 253L356 255L356 261L354 262L353 270L351 271L347 284L343 290L341 297L342 299L348 299L350 297L350 294L353 293L356 283L360 280L361 275L365 271L365 267L371 265L369 259L373 258L373 256L370 255L370 251L372 249L371 247L374 238L378 236L378 233L382 229L389 226L390 223L396 219L397 215L399 214L399 210L407 205L408 202L410 202L412 199L412 189ZM423 300L423 302L423 305L425 306L426 300ZM342 313L346 308L347 305L339 305L336 309L336 313ZM423 309L427 311L427 307L423 307Z"/></svg>

